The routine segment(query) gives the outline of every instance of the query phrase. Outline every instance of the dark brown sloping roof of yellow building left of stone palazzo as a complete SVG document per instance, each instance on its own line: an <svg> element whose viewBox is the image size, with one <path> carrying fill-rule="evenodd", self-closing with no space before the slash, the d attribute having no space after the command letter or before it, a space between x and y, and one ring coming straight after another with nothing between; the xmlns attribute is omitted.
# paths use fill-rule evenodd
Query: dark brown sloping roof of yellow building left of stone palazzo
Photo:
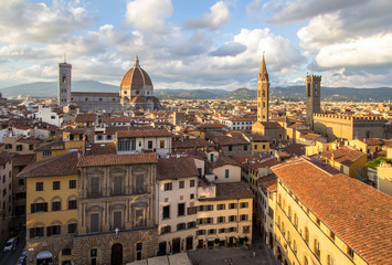
<svg viewBox="0 0 392 265"><path fill-rule="evenodd" d="M18 178L76 174L77 160L77 152L67 152L60 157L29 165L18 174Z"/></svg>

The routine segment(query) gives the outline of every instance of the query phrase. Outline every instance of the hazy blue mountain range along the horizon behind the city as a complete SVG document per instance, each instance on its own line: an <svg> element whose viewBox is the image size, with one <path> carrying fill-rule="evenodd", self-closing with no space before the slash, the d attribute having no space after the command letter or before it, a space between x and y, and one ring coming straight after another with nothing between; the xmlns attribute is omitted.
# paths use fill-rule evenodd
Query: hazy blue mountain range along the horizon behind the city
<svg viewBox="0 0 392 265"><path fill-rule="evenodd" d="M119 87L97 81L74 81L74 92L118 92ZM271 87L271 96L288 100L303 100L305 86ZM10 86L0 89L3 97L56 97L57 82L35 82L23 85ZM224 89L155 89L155 96L160 99L255 99L256 89L237 88ZM321 87L324 100L377 100L392 99L392 87L353 88L353 87Z"/></svg>

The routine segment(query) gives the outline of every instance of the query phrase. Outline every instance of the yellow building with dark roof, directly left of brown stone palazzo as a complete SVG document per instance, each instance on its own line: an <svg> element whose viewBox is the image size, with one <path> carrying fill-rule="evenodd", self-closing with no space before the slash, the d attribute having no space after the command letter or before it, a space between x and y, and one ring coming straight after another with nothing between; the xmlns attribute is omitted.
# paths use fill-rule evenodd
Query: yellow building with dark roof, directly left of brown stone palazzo
<svg viewBox="0 0 392 265"><path fill-rule="evenodd" d="M77 230L77 152L24 168L28 264L72 261ZM46 262L46 263L45 263Z"/></svg>

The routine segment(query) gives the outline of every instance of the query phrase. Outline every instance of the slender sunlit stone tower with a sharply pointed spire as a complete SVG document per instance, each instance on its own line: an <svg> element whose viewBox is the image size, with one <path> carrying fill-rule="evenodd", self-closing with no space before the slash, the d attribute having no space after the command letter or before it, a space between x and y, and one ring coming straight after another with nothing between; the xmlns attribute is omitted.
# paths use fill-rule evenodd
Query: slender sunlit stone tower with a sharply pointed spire
<svg viewBox="0 0 392 265"><path fill-rule="evenodd" d="M257 81L257 120L268 121L269 80L263 54Z"/></svg>

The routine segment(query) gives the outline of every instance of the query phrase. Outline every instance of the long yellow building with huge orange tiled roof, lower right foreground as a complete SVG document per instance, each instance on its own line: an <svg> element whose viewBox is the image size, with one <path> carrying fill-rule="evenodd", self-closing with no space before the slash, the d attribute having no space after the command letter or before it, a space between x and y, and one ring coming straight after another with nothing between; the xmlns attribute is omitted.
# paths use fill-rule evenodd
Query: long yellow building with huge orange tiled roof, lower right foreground
<svg viewBox="0 0 392 265"><path fill-rule="evenodd" d="M391 264L391 197L300 157L277 176L274 254L284 264Z"/></svg>

